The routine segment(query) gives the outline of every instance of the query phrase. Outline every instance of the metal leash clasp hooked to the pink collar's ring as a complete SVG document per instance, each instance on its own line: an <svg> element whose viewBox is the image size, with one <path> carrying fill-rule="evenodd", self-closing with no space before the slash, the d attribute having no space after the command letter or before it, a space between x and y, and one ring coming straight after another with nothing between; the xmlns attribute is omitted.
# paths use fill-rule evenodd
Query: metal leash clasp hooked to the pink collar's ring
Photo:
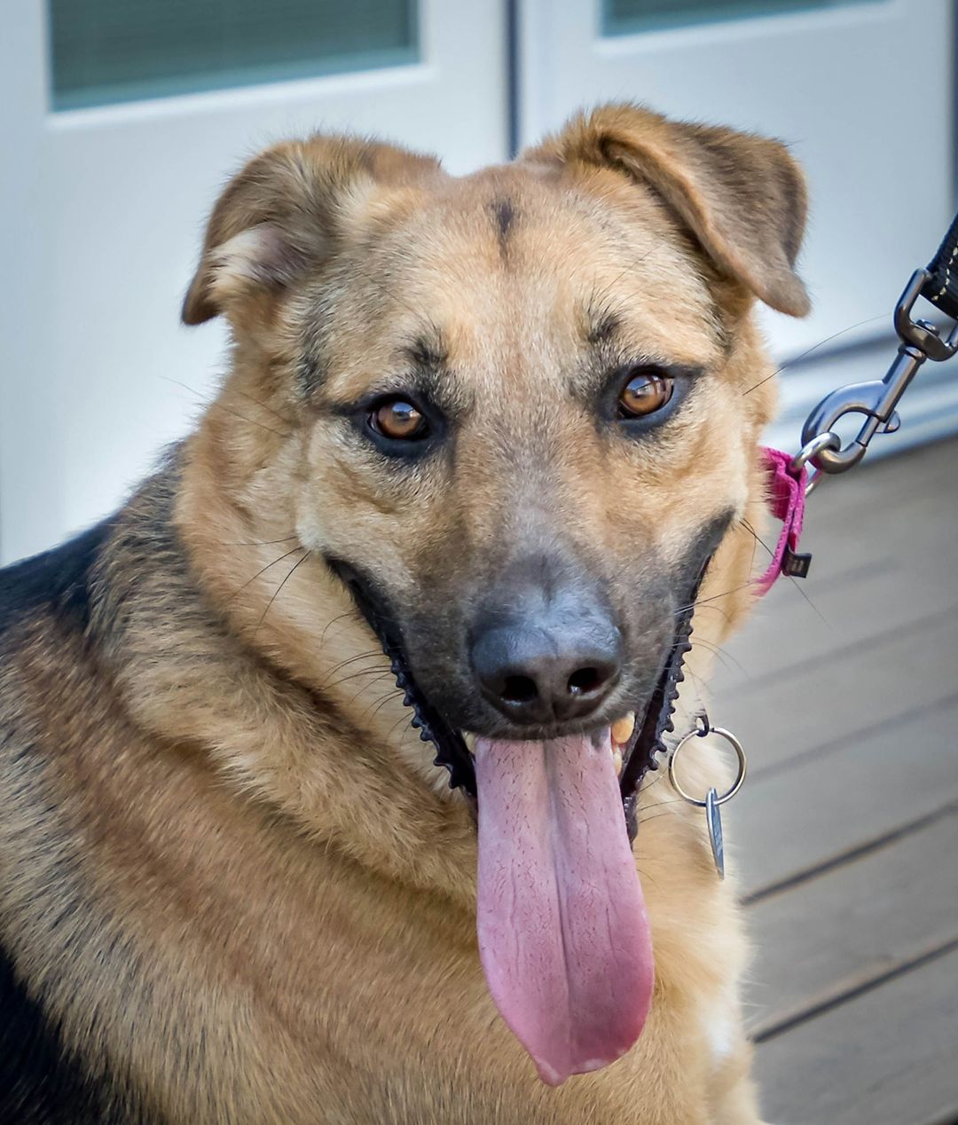
<svg viewBox="0 0 958 1125"><path fill-rule="evenodd" d="M847 472L858 465L868 451L876 433L894 433L901 425L895 408L909 384L927 360L951 359L958 352L958 324L946 338L929 321L912 318L912 309L928 281L928 270L915 270L895 306L895 331L902 343L884 379L853 382L826 395L808 415L802 430L802 451L795 459L801 466L806 461L820 472ZM833 432L839 418L846 414L864 414L865 421L858 435L842 446ZM819 474L812 478L808 492L817 484Z"/></svg>

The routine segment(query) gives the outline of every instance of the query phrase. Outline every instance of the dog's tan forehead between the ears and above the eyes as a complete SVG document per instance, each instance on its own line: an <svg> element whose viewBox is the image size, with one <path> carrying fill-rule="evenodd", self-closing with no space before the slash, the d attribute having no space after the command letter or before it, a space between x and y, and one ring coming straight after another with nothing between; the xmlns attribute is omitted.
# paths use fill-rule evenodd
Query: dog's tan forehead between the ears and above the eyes
<svg viewBox="0 0 958 1125"><path fill-rule="evenodd" d="M337 395L410 354L483 385L536 363L571 370L612 338L622 361L711 367L723 354L694 249L651 194L617 176L581 184L505 165L446 179L363 253L338 289L361 298L340 300L323 333L335 340L326 370Z"/></svg>

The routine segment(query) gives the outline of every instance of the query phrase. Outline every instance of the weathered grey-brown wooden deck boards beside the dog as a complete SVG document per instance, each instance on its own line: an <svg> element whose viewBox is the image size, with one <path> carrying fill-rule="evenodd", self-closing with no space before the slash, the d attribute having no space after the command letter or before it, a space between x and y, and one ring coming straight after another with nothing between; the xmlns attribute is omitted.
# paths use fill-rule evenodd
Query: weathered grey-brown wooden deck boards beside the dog
<svg viewBox="0 0 958 1125"><path fill-rule="evenodd" d="M712 709L749 750L725 825L762 1109L958 1122L958 440L826 480L803 547Z"/></svg>

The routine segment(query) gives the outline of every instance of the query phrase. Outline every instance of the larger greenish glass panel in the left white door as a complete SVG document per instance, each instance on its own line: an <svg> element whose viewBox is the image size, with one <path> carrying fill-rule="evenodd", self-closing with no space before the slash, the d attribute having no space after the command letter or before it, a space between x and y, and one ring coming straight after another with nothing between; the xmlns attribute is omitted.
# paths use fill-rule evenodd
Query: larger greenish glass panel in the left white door
<svg viewBox="0 0 958 1125"><path fill-rule="evenodd" d="M49 0L54 109L415 62L416 0Z"/></svg>

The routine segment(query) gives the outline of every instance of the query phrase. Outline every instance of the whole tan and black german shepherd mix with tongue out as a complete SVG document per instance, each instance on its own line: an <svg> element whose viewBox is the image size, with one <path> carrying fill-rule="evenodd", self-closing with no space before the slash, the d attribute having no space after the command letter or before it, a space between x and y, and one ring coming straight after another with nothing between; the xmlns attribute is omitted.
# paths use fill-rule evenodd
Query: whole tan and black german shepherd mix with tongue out
<svg viewBox="0 0 958 1125"><path fill-rule="evenodd" d="M616 774L752 600L804 216L779 144L631 106L229 183L218 398L2 573L4 1123L758 1120L733 888Z"/></svg>

